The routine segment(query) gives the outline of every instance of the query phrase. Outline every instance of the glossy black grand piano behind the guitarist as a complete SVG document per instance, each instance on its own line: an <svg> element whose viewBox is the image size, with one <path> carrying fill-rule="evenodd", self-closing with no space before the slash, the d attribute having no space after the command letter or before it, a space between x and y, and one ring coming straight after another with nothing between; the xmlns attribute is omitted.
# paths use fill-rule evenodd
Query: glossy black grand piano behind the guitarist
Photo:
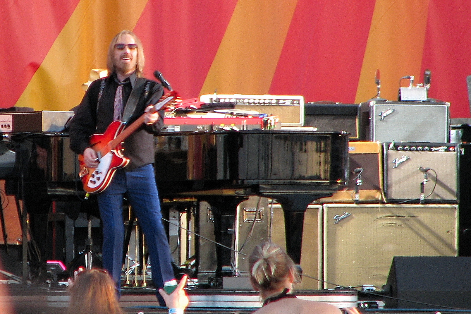
<svg viewBox="0 0 471 314"><path fill-rule="evenodd" d="M10 140L18 149L27 204L83 197L67 133L11 134ZM297 264L306 208L348 180L348 134L343 132L165 132L156 137L155 149L161 197L207 201L215 214L215 239L227 247L240 202L252 195L278 201L287 252ZM216 255L220 275L231 252L218 246Z"/></svg>

